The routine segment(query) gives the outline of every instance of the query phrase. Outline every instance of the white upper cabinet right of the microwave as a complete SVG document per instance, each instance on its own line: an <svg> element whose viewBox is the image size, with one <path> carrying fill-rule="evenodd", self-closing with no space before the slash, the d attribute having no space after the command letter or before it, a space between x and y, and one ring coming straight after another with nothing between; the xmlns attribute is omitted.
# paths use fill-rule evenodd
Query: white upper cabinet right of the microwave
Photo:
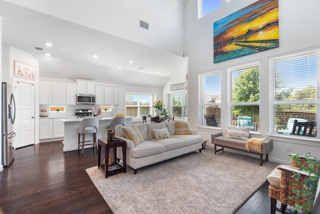
<svg viewBox="0 0 320 214"><path fill-rule="evenodd" d="M95 105L120 105L120 88L111 86L95 86Z"/></svg>

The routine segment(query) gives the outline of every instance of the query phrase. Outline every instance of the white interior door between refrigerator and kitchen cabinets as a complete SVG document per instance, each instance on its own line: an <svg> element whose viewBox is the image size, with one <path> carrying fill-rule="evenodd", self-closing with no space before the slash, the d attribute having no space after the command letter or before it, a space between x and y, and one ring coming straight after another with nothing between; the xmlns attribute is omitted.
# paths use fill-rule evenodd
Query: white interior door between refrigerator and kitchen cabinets
<svg viewBox="0 0 320 214"><path fill-rule="evenodd" d="M34 144L34 84L15 82L16 115L13 148Z"/></svg>

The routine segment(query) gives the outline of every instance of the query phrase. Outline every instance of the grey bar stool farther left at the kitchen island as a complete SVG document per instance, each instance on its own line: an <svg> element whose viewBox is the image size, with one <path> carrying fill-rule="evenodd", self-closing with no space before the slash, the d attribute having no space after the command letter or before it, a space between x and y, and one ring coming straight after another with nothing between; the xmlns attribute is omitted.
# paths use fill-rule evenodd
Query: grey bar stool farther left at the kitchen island
<svg viewBox="0 0 320 214"><path fill-rule="evenodd" d="M83 154L84 146L93 145L96 148L96 133L98 132L99 121L97 118L84 118L81 120L78 127L78 150L81 146L81 154ZM80 142L80 135L82 134L82 142ZM93 142L85 143L85 134L93 134Z"/></svg>

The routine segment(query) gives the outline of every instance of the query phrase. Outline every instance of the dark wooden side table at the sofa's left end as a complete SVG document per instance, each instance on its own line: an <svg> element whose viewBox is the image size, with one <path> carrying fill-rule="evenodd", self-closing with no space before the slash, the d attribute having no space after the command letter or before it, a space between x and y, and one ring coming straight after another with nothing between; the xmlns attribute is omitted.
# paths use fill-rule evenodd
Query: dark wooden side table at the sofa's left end
<svg viewBox="0 0 320 214"><path fill-rule="evenodd" d="M104 147L104 167L100 165L101 162L101 146ZM123 166L116 162L116 148L122 147ZM115 164L108 166L109 150L113 148L113 155ZM104 171L104 177L107 178L109 174L116 172L126 172L126 142L124 140L108 140L107 138L98 139L98 168Z"/></svg>

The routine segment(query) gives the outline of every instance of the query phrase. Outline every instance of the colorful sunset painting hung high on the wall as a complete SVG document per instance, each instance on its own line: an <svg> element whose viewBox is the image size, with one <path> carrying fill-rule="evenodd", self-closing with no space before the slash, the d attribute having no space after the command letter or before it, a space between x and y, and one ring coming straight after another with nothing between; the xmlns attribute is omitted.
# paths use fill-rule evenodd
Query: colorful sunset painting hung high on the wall
<svg viewBox="0 0 320 214"><path fill-rule="evenodd" d="M279 47L278 0L259 0L213 23L213 63Z"/></svg>

